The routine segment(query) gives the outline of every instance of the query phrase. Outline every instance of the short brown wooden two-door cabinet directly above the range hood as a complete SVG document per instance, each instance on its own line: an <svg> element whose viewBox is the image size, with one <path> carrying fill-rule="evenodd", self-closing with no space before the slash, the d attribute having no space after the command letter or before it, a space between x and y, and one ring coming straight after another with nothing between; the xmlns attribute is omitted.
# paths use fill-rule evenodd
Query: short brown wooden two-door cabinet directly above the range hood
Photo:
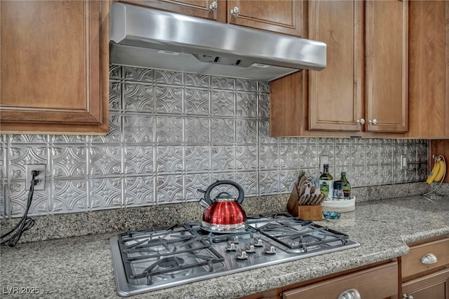
<svg viewBox="0 0 449 299"><path fill-rule="evenodd" d="M301 36L300 0L123 0L174 13Z"/></svg>

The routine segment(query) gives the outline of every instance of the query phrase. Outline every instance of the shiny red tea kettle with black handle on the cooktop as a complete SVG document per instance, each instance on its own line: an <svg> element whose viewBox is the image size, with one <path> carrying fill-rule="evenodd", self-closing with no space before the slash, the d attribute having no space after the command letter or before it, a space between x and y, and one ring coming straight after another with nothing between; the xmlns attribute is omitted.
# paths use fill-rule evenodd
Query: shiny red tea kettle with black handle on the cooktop
<svg viewBox="0 0 449 299"><path fill-rule="evenodd" d="M227 192L220 192L214 200L210 200L210 191L216 186L232 185L239 190L239 197L232 198ZM241 186L234 181L216 181L208 186L206 191L198 189L204 193L204 198L199 200L199 204L205 208L201 228L208 232L239 232L248 228L246 214L241 207L244 192Z"/></svg>

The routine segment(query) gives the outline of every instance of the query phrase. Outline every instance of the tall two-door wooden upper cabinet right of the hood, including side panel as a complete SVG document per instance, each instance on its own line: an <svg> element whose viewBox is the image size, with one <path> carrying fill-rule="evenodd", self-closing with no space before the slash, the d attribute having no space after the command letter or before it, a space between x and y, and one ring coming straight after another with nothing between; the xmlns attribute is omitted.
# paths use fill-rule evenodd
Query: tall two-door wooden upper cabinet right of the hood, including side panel
<svg viewBox="0 0 449 299"><path fill-rule="evenodd" d="M406 132L408 1L311 0L308 22L327 67L272 82L272 136Z"/></svg>

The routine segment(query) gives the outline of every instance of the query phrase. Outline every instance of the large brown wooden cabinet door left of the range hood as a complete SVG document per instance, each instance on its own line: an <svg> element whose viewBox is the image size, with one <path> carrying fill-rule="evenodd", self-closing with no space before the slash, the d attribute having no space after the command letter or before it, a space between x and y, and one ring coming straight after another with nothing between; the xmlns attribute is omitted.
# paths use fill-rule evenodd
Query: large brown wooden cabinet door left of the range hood
<svg viewBox="0 0 449 299"><path fill-rule="evenodd" d="M0 1L2 132L107 132L107 1Z"/></svg>

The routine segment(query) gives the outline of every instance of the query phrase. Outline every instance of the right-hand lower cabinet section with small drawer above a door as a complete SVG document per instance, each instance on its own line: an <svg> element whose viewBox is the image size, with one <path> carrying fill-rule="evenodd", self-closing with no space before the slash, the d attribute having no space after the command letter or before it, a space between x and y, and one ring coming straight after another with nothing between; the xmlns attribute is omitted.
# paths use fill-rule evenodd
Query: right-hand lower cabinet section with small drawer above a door
<svg viewBox="0 0 449 299"><path fill-rule="evenodd" d="M449 299L449 237L410 244L401 272L402 298Z"/></svg>

